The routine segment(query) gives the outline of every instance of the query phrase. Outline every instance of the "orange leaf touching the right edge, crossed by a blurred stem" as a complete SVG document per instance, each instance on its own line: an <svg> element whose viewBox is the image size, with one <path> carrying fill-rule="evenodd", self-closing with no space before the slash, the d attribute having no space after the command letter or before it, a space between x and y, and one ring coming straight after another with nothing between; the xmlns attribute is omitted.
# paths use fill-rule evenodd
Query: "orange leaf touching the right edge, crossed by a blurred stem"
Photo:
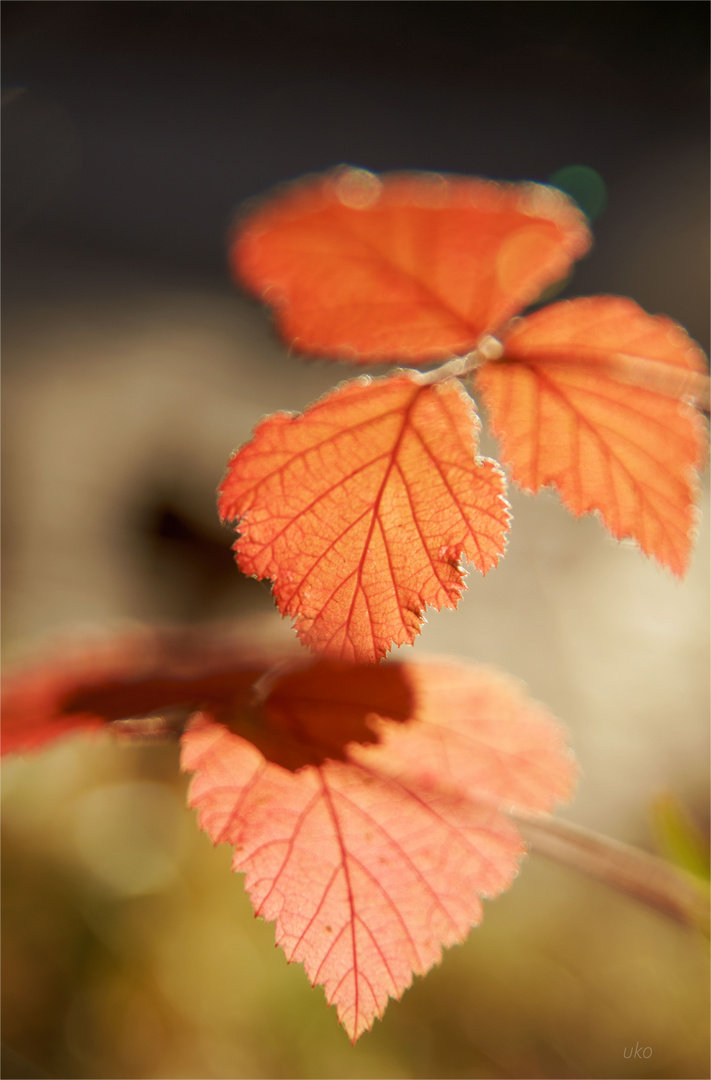
<svg viewBox="0 0 711 1080"><path fill-rule="evenodd" d="M613 536L681 576L705 438L701 418L673 395L703 369L682 327L601 296L517 322L502 361L480 368L475 386L517 484L553 485L576 515L600 511Z"/></svg>

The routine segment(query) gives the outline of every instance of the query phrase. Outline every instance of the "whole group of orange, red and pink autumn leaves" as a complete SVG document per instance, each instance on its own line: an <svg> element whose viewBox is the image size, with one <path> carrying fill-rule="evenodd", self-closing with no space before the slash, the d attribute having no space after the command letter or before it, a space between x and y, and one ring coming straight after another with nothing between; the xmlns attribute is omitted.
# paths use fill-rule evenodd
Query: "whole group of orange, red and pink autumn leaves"
<svg viewBox="0 0 711 1080"><path fill-rule="evenodd" d="M599 296L521 312L588 249L538 185L339 168L253 205L238 282L296 352L359 376L274 414L231 458L219 514L304 648L151 630L79 644L3 689L3 752L73 730L179 734L189 804L289 960L356 1040L508 888L576 766L509 676L386 661L505 555L507 472L687 567L705 357L670 319ZM404 367L402 365L405 365ZM479 454L481 399L500 461Z"/></svg>

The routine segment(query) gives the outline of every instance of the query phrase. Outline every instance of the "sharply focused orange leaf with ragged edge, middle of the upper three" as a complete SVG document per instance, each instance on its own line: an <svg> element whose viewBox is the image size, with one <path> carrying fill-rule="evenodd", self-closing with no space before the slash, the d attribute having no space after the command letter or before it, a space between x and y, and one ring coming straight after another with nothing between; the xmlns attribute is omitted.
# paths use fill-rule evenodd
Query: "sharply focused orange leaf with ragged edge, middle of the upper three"
<svg viewBox="0 0 711 1080"><path fill-rule="evenodd" d="M477 451L459 384L416 373L353 380L300 416L263 420L219 488L244 573L270 578L301 640L377 661L411 644L426 605L456 607L460 561L505 549L504 477Z"/></svg>

